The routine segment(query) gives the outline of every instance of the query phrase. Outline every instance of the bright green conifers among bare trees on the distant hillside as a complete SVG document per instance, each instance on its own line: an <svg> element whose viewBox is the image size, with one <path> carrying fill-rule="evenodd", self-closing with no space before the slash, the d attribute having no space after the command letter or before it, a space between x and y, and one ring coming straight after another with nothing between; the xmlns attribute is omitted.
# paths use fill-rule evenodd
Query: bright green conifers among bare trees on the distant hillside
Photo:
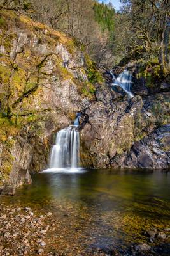
<svg viewBox="0 0 170 256"><path fill-rule="evenodd" d="M94 13L96 21L101 25L103 31L108 29L108 31L113 31L115 27L114 17L115 9L109 7L108 4L94 4Z"/></svg>

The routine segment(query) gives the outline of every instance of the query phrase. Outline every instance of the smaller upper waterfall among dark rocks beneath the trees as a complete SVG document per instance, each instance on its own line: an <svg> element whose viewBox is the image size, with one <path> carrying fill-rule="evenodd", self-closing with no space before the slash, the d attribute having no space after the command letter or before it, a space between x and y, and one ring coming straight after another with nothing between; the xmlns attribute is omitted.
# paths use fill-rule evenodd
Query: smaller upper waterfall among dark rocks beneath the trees
<svg viewBox="0 0 170 256"><path fill-rule="evenodd" d="M131 99L134 97L133 93L131 92L132 86L132 72L128 70L124 70L117 78L114 76L113 72L110 72L111 76L113 77L113 85L120 86L129 96Z"/></svg>

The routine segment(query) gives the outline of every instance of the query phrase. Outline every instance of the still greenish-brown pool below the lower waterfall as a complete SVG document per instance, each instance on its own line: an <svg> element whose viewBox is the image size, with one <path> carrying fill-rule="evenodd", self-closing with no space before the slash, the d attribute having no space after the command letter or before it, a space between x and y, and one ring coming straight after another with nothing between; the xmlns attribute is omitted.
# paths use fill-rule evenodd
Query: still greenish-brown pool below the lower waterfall
<svg viewBox="0 0 170 256"><path fill-rule="evenodd" d="M32 181L4 200L53 212L60 232L67 234L66 243L70 237L75 243L125 250L131 244L148 243L146 230L170 227L168 171L39 173L32 175ZM74 238L75 232L79 239Z"/></svg>

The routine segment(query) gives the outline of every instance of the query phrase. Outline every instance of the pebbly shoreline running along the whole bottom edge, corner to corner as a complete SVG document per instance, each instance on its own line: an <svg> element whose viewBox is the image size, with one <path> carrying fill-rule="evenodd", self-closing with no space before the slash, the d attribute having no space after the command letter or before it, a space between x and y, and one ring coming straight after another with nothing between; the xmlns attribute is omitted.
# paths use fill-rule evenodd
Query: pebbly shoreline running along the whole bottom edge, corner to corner
<svg viewBox="0 0 170 256"><path fill-rule="evenodd" d="M0 198L1 199L1 198ZM68 218L69 214L64 214ZM117 246L74 244L67 249L64 230L60 230L60 221L52 212L40 214L30 207L0 205L0 255L1 256L121 256L121 255L168 255L170 248L170 227L152 228L141 236L146 243L134 244L124 250ZM69 236L69 233L67 233ZM59 243L62 239L62 243ZM80 246L80 247L79 247ZM61 251L62 248L62 251ZM75 249L76 248L76 249Z"/></svg>

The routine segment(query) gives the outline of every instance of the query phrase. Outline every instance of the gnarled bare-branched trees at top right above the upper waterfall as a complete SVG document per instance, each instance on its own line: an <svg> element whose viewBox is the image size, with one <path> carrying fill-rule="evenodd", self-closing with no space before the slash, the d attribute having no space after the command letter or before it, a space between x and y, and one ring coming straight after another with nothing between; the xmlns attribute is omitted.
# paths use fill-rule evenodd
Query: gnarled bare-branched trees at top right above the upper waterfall
<svg viewBox="0 0 170 256"><path fill-rule="evenodd" d="M122 0L122 15L129 24L129 34L135 38L129 51L140 49L157 56L163 73L169 65L169 0Z"/></svg>

